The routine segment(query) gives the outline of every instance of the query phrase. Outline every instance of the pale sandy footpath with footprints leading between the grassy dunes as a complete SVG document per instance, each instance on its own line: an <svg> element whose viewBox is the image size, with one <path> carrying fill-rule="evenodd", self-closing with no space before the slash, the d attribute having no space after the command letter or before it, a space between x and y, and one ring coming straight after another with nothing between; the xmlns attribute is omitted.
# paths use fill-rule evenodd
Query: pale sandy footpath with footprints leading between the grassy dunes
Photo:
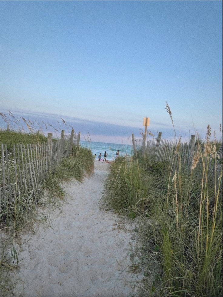
<svg viewBox="0 0 223 297"><path fill-rule="evenodd" d="M98 205L108 167L95 160L90 179L66 184L72 199L66 199L62 213L50 214L34 235L22 235L19 258L24 260L14 296L134 295L133 281L141 278L130 272L135 223Z"/></svg>

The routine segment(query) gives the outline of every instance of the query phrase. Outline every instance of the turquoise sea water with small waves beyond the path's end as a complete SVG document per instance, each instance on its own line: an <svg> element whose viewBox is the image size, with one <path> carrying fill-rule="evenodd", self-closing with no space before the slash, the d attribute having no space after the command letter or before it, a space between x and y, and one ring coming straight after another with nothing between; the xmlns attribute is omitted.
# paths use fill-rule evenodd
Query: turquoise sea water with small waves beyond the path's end
<svg viewBox="0 0 223 297"><path fill-rule="evenodd" d="M131 156L131 145L125 145L125 144L115 144L115 143L106 143L106 142L88 142L88 141L80 141L80 145L82 147L87 147L88 149L91 149L92 154L96 154L95 160L98 158L98 155L102 153L102 160L105 151L107 152L107 160L114 160L115 159L115 153L117 150L119 150L120 156L130 155Z"/></svg>

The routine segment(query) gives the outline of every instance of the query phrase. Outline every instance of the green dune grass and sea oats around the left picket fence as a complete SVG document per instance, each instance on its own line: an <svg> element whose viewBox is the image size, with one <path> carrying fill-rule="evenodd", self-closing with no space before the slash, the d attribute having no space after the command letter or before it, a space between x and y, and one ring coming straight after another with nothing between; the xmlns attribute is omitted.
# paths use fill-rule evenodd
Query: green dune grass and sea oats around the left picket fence
<svg viewBox="0 0 223 297"><path fill-rule="evenodd" d="M25 118L15 118L9 111L9 116L0 113L0 116L8 123L9 131L0 129L1 143L6 144L8 148L8 159L13 158L13 146L28 145L28 144L42 144L47 142L47 138L43 134L43 128L38 124ZM14 124L12 124L12 122ZM28 128L28 132L22 126L22 123ZM63 122L66 127L68 125ZM13 129L16 125L17 130ZM46 129L52 125L44 123ZM37 130L38 128L38 130ZM72 128L72 127L71 127ZM55 129L57 132L58 130ZM55 141L55 140L53 140ZM5 146L4 146L5 148ZM27 157L27 156L26 156ZM1 157L0 157L1 158ZM25 158L25 155L23 155ZM28 162L28 161L27 161ZM72 145L72 154L63 158L58 166L48 170L47 177L42 180L41 184L31 191L25 191L24 185L20 185L21 193L17 188L17 178L15 174L14 162L8 163L8 175L10 180L16 181L15 187L5 187L6 196L10 199L2 199L0 204L0 230L4 238L1 237L2 245L0 250L0 295L5 296L6 292L12 288L12 280L10 271L18 268L18 251L19 247L15 247L14 242L16 237L22 229L32 229L34 222L45 222L48 216L42 215L37 218L37 207L43 207L47 204L53 204L55 207L60 207L61 199L64 199L66 194L63 187L63 182L77 179L79 182L85 176L90 176L94 170L94 163L92 160L92 152L87 148L79 147L79 145ZM17 171L18 171L17 166ZM8 179L6 176L6 180ZM2 177L2 176L1 176ZM1 182L3 179L1 178ZM21 183L21 182L20 182ZM3 184L1 184L1 187Z"/></svg>

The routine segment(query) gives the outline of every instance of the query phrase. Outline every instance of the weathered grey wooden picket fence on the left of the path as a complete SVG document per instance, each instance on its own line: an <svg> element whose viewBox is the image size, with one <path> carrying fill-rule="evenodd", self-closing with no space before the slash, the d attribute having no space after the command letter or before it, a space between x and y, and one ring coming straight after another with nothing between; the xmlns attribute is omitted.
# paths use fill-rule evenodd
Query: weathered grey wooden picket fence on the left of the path
<svg viewBox="0 0 223 297"><path fill-rule="evenodd" d="M20 195L32 193L40 188L49 172L55 169L63 158L72 155L72 145L79 145L80 132L53 139L48 133L48 142L42 144L13 145L8 149L1 144L0 164L0 217L7 203Z"/></svg>

